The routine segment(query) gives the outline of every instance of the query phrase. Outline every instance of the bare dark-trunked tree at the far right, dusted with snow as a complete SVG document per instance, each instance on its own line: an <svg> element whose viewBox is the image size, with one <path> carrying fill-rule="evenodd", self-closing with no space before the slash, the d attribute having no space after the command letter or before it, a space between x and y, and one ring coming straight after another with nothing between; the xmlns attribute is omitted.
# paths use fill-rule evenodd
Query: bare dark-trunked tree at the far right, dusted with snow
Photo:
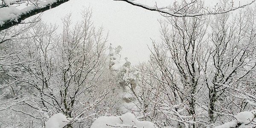
<svg viewBox="0 0 256 128"><path fill-rule="evenodd" d="M252 109L249 102L236 96L236 93L241 92L230 90L230 86L234 89L247 87L248 89L244 89L245 93L254 93L252 90L255 90L253 86L255 79L251 76L255 73L256 67L256 61L254 61L255 16L250 13L250 10L240 12L233 17L232 21L230 21L232 17L229 14L215 16L213 21L210 37L213 44L211 49L213 65L207 64L209 67L205 80L209 88L211 122L215 122L218 116L223 116L222 113L232 116L234 110L239 113ZM214 73L212 77L209 72ZM227 105L227 102L232 102L234 105Z"/></svg>

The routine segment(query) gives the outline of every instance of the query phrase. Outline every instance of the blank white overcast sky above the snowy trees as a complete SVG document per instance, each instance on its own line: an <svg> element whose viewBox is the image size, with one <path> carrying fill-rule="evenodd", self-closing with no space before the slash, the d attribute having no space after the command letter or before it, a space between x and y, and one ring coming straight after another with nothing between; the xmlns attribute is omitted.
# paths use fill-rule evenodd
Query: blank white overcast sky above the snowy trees
<svg viewBox="0 0 256 128"><path fill-rule="evenodd" d="M156 0L140 0L142 3L154 5ZM173 0L158 0L157 6L166 5ZM208 5L213 1L205 0ZM234 0L239 1L239 0ZM240 0L248 1L248 0ZM168 4L167 4L168 5ZM61 17L73 14L73 21L79 20L81 10L91 7L93 21L96 26L103 26L109 31L108 44L114 47L122 46L122 57L128 57L132 64L147 61L150 52L151 39L160 40L159 23L157 19L164 18L158 12L152 12L122 1L113 0L70 0L60 6L44 12L42 20L60 25ZM147 46L148 45L148 46Z"/></svg>

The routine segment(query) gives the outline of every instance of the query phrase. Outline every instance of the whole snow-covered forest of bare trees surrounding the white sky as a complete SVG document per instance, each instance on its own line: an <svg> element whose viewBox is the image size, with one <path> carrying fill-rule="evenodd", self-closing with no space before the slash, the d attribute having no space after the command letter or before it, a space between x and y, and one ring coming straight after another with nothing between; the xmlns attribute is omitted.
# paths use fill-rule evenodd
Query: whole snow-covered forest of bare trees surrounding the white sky
<svg viewBox="0 0 256 128"><path fill-rule="evenodd" d="M138 64L92 8L59 28L36 14L69 0L0 1L0 128L256 128L255 0L114 0L163 17Z"/></svg>

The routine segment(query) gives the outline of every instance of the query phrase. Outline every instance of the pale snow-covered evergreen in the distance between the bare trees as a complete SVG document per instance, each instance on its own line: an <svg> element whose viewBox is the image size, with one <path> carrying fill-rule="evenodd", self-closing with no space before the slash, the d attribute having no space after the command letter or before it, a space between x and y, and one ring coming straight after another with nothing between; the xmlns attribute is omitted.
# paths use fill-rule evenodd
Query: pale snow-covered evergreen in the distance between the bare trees
<svg viewBox="0 0 256 128"><path fill-rule="evenodd" d="M121 58L121 46L115 48L110 45L110 71L111 81L113 81L113 92L117 93L116 97L119 100L118 114L126 112L136 113L137 107L134 105L133 91L137 86L137 72L131 66L128 58ZM135 110L134 110L135 108Z"/></svg>

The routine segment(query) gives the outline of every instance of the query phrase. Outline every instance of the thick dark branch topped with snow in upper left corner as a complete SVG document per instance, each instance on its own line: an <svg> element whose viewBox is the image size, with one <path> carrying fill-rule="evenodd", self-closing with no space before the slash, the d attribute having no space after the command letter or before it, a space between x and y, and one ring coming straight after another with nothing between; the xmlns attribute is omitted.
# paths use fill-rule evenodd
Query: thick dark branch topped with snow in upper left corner
<svg viewBox="0 0 256 128"><path fill-rule="evenodd" d="M13 5L22 4L24 0L19 0L19 3L17 3L17 1L15 3L12 0L2 1L4 4L0 5L0 31L22 23L22 21L28 17L55 8L69 0L42 0L40 2L37 0L37 2L31 2L30 6L23 9L17 9Z"/></svg>

